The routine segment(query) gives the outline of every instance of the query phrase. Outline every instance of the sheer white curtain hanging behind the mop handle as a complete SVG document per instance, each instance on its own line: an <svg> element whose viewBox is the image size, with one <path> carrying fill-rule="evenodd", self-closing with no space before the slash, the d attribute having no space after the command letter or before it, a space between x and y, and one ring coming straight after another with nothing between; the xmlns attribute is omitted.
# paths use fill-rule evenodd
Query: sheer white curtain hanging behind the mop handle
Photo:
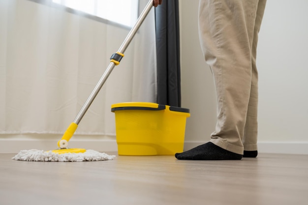
<svg viewBox="0 0 308 205"><path fill-rule="evenodd" d="M140 0L141 10L147 2ZM62 134L128 32L51 0L0 0L0 134ZM155 102L154 34L153 9L76 135L114 136L112 104Z"/></svg>

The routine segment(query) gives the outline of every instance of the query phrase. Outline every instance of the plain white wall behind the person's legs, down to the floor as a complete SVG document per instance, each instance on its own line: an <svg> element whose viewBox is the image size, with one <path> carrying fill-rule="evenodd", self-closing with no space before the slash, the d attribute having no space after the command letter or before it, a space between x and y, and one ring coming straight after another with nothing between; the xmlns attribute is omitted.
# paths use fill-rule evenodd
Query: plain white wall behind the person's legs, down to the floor
<svg viewBox="0 0 308 205"><path fill-rule="evenodd" d="M182 103L189 108L185 149L210 139L214 83L198 37L198 0L180 0ZM258 44L259 152L308 154L307 0L268 0Z"/></svg>

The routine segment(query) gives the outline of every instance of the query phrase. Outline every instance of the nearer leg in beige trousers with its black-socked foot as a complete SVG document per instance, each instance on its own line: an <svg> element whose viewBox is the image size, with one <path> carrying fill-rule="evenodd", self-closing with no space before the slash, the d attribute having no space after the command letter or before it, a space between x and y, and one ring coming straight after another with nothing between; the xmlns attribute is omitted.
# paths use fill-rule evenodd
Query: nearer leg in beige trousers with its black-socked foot
<svg viewBox="0 0 308 205"><path fill-rule="evenodd" d="M217 123L211 141L178 159L241 159L251 87L251 47L257 0L200 0L199 35L217 95ZM211 153L210 153L211 152Z"/></svg>

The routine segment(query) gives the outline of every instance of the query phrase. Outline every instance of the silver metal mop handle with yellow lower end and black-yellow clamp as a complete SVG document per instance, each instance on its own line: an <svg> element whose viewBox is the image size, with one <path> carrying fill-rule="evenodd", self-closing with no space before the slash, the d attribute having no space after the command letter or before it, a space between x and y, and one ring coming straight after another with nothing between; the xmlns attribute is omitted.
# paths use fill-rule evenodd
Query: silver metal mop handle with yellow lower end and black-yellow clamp
<svg viewBox="0 0 308 205"><path fill-rule="evenodd" d="M107 78L109 77L110 73L112 72L113 68L120 63L120 60L124 56L123 53L125 52L126 48L128 47L129 43L131 42L132 38L136 34L137 30L141 26L142 22L145 20L147 15L149 14L150 10L153 7L153 0L149 0L147 6L145 9L142 11L140 14L138 20L136 21L135 25L133 28L129 31L128 35L126 36L125 40L123 41L120 49L118 50L117 53L113 54L111 57L111 62L109 66L107 67L106 71L96 84L95 88L93 89L92 93L90 94L89 98L79 111L78 115L74 119L74 121L68 126L67 130L64 132L62 139L60 141L63 142L63 145L60 146L60 141L58 142L59 147L66 147L67 144L65 144L70 140L70 138L73 136L74 132L77 129L77 126L81 119L84 117L86 112L88 111L90 105L92 104L93 100L95 99L96 95L98 94L99 90L103 87L104 83L106 82ZM64 140L64 141L63 141ZM65 144L65 145L64 145Z"/></svg>

